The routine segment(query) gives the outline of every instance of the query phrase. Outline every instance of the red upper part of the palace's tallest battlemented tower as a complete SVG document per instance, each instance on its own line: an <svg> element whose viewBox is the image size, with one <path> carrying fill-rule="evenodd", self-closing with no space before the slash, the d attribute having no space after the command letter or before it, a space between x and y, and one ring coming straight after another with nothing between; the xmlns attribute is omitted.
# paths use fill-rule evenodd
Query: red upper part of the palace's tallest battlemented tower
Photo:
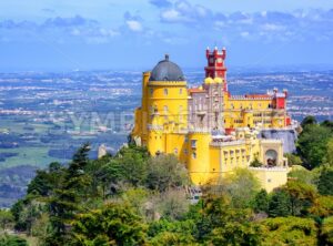
<svg viewBox="0 0 333 246"><path fill-rule="evenodd" d="M222 51L219 51L216 47L213 51L210 51L209 48L205 50L208 61L208 65L204 68L205 78L210 76L212 79L223 79L224 91L226 91L226 68L224 65L225 55L225 48L223 48Z"/></svg>

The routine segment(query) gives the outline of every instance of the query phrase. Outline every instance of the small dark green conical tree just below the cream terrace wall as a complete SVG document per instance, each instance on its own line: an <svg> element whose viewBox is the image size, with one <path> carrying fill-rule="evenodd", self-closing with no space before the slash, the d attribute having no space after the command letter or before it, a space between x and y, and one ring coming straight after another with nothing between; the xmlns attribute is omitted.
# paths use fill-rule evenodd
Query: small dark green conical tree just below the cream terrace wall
<svg viewBox="0 0 333 246"><path fill-rule="evenodd" d="M291 215L290 196L284 189L276 189L272 193L269 204L270 217L284 217Z"/></svg>

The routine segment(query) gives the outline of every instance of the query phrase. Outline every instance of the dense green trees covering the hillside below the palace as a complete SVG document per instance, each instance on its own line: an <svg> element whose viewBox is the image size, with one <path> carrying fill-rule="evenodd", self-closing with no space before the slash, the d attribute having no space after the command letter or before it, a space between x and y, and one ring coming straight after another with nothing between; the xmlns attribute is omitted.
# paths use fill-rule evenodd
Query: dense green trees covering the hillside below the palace
<svg viewBox="0 0 333 246"><path fill-rule="evenodd" d="M56 246L332 245L330 134L330 122L306 120L299 153L290 156L296 166L287 183L270 194L250 171L236 170L201 187L195 204L186 192L188 172L175 156L152 157L130 145L114 156L90 160L85 144L68 165L51 163L38 171L26 197L0 212L0 226ZM4 233L0 245L27 242Z"/></svg>

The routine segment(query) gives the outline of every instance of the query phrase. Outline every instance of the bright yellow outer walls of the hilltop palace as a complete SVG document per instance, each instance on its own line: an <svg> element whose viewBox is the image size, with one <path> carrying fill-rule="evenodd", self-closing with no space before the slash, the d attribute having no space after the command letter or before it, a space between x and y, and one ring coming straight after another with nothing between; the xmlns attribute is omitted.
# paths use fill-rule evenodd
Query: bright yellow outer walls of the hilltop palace
<svg viewBox="0 0 333 246"><path fill-rule="evenodd" d="M201 185L223 177L238 167L249 167L256 156L265 163L265 151L278 152L278 165L283 163L281 141L262 141L245 130L236 130L238 141L212 143L208 132L186 132L188 129L188 90L186 82L149 82L150 73L142 78L142 105L135 110L135 125L132 132L138 143L145 145L152 155L157 153L174 154L185 164L194 184ZM256 113L271 113L270 100L229 100L225 98L225 127L252 127ZM252 106L252 111L243 109ZM233 107L233 109L231 109ZM266 110L261 110L266 109ZM234 123L234 120L242 122ZM278 119L278 122L279 123ZM273 123L273 126L280 126ZM271 127L270 124L265 124ZM262 186L268 191L286 182L286 172L269 168L251 168Z"/></svg>

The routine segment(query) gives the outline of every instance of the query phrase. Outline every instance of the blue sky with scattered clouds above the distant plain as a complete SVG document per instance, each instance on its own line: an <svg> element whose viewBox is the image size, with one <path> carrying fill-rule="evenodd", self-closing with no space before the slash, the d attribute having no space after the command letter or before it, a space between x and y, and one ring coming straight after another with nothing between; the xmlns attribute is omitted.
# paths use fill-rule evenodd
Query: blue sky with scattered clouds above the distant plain
<svg viewBox="0 0 333 246"><path fill-rule="evenodd" d="M232 2L232 3L231 3ZM0 1L0 71L333 64L333 0Z"/></svg>

